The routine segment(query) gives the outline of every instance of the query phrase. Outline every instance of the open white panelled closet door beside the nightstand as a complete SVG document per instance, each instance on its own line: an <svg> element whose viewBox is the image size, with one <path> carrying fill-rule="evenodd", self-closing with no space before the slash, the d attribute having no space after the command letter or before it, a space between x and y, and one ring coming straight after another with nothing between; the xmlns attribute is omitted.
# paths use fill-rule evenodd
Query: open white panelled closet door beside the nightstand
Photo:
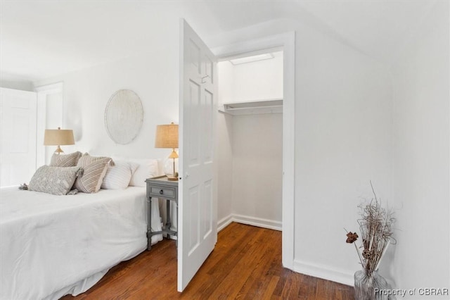
<svg viewBox="0 0 450 300"><path fill-rule="evenodd" d="M178 291L182 292L217 242L217 61L185 20L180 31Z"/></svg>

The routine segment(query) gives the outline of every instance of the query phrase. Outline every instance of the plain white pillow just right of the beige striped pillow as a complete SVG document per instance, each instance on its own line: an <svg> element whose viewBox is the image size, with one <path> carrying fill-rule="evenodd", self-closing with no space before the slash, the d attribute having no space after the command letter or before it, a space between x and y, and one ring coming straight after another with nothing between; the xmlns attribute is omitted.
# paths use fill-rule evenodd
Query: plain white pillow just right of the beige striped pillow
<svg viewBox="0 0 450 300"><path fill-rule="evenodd" d="M131 175L133 175L138 166L139 164L128 161L115 161L115 165L110 165L106 170L101 188L126 189L131 180Z"/></svg>

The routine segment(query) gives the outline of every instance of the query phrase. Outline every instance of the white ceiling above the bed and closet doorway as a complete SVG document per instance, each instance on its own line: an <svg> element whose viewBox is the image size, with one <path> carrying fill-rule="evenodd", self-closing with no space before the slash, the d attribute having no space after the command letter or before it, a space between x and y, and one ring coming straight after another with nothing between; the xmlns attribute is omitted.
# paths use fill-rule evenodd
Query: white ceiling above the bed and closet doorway
<svg viewBox="0 0 450 300"><path fill-rule="evenodd" d="M302 21L392 63L437 1L4 1L1 79L41 80L150 49L161 24L195 20L205 37L270 20ZM197 27L198 26L198 27Z"/></svg>

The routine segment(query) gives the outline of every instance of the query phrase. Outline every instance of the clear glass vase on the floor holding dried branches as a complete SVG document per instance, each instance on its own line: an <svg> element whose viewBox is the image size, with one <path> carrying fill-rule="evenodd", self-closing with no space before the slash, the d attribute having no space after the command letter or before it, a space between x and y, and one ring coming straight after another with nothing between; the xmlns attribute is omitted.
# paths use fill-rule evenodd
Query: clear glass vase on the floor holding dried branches
<svg viewBox="0 0 450 300"><path fill-rule="evenodd" d="M387 282L378 271L370 275L366 270L354 273L354 299L355 300L387 300Z"/></svg>

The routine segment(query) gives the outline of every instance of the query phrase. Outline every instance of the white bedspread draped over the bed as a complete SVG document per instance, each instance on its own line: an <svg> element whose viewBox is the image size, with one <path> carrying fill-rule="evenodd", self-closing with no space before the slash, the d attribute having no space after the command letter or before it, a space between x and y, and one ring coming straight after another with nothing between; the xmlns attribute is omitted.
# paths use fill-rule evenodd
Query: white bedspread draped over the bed
<svg viewBox="0 0 450 300"><path fill-rule="evenodd" d="M0 190L0 299L86 291L146 249L146 188L55 196ZM152 227L161 230L158 201ZM152 244L162 239L154 237Z"/></svg>

